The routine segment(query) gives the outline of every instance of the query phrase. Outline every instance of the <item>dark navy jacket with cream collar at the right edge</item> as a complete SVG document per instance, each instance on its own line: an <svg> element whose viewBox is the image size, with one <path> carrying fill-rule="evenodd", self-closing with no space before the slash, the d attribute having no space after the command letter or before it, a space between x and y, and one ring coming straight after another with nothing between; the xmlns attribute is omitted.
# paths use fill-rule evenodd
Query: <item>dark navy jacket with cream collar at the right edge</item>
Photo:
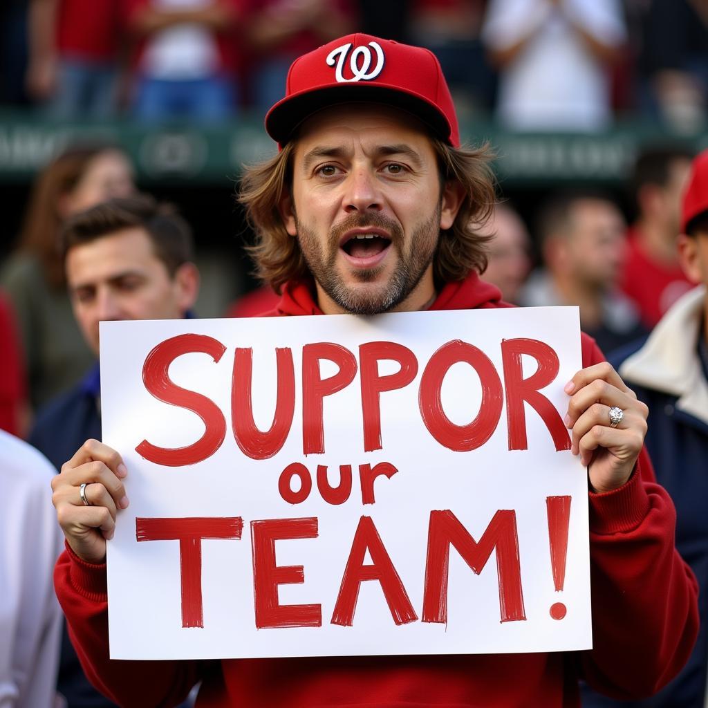
<svg viewBox="0 0 708 708"><path fill-rule="evenodd" d="M587 691L583 707L703 708L708 668L708 346L704 289L680 299L651 336L610 362L649 406L645 445L676 507L676 547L700 586L700 634L681 673L656 696L614 702Z"/></svg>

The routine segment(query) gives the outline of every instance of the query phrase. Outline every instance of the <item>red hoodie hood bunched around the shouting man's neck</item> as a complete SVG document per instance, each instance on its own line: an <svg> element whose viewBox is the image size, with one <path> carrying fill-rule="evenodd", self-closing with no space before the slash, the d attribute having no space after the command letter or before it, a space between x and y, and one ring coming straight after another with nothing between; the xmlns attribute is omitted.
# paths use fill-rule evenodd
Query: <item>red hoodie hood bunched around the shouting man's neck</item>
<svg viewBox="0 0 708 708"><path fill-rule="evenodd" d="M513 307L513 305L502 301L498 287L484 282L477 273L472 272L464 280L446 283L428 309L452 310L478 307ZM280 302L275 310L268 312L266 316L303 314L324 314L316 302L313 280L287 282L282 288Z"/></svg>

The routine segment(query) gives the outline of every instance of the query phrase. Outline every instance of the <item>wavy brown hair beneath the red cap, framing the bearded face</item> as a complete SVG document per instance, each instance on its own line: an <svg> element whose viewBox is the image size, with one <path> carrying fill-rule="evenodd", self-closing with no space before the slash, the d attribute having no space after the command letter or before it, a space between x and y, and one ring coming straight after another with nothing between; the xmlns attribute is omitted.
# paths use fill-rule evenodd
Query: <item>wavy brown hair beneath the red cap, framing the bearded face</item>
<svg viewBox="0 0 708 708"><path fill-rule="evenodd" d="M292 183L291 140L275 157L249 166L244 171L238 200L246 207L246 218L256 234L247 250L256 263L256 275L276 292L289 280L302 280L309 270L297 239L285 230L278 204ZM495 180L488 145L455 148L431 138L442 182L462 185L464 198L450 229L440 232L433 262L435 282L464 280L472 270L483 273L487 264L486 243L477 229L489 219L496 200Z"/></svg>

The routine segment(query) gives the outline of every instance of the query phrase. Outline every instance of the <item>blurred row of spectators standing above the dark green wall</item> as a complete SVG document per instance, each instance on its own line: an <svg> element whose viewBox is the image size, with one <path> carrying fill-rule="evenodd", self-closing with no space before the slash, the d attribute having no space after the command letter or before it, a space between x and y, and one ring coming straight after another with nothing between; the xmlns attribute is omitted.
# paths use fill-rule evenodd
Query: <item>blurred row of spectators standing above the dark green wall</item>
<svg viewBox="0 0 708 708"><path fill-rule="evenodd" d="M706 0L5 0L0 105L52 118L263 115L355 30L429 47L462 120L601 130L706 116Z"/></svg>

